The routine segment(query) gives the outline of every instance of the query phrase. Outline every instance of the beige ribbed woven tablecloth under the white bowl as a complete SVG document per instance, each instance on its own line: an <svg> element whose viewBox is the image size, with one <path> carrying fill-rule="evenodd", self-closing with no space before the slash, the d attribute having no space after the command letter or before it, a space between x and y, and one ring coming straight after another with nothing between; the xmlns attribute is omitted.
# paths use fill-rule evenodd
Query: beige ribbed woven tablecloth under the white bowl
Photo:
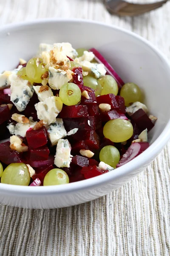
<svg viewBox="0 0 170 256"><path fill-rule="evenodd" d="M119 18L108 14L102 0L0 1L0 25L42 17L115 24L149 39L170 58L170 3ZM53 210L0 206L0 256L170 255L169 154L170 143L145 172L93 202Z"/></svg>

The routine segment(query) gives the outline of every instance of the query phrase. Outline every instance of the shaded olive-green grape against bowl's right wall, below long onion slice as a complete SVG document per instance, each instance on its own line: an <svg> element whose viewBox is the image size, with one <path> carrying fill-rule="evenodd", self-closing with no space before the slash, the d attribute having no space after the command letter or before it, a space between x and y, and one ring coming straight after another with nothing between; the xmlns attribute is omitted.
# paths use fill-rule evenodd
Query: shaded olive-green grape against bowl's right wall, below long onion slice
<svg viewBox="0 0 170 256"><path fill-rule="evenodd" d="M133 102L142 102L142 92L137 84L127 83L124 84L120 90L120 96L125 99L125 106L130 106Z"/></svg>

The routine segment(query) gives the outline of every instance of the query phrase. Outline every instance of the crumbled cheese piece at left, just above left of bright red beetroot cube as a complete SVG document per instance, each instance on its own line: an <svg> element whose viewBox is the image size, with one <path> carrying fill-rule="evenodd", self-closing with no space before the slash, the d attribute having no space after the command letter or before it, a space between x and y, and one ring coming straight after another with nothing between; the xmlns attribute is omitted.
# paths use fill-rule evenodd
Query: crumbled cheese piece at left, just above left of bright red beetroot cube
<svg viewBox="0 0 170 256"><path fill-rule="evenodd" d="M34 122L31 117L29 118L29 123L17 123L16 125L14 123L8 124L7 128L10 132L10 134L19 135L21 137L26 137L26 131L29 129L33 129L37 122Z"/></svg>

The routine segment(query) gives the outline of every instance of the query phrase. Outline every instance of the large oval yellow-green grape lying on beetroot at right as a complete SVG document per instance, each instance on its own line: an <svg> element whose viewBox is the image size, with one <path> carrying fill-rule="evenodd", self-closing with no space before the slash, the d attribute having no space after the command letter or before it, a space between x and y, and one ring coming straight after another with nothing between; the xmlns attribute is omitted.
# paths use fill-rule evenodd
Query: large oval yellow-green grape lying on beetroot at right
<svg viewBox="0 0 170 256"><path fill-rule="evenodd" d="M123 142L132 137L133 126L131 122L125 119L110 120L105 124L103 134L105 138L113 142Z"/></svg>

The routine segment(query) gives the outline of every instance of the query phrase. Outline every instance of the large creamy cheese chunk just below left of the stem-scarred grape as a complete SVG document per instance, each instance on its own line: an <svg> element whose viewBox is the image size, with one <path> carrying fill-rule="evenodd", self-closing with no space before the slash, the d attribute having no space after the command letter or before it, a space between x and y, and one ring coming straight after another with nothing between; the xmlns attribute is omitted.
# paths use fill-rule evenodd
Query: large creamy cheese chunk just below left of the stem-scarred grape
<svg viewBox="0 0 170 256"><path fill-rule="evenodd" d="M43 102L35 104L38 119L44 120L48 125L56 121L56 117L62 110L62 101L59 97L52 96Z"/></svg>

